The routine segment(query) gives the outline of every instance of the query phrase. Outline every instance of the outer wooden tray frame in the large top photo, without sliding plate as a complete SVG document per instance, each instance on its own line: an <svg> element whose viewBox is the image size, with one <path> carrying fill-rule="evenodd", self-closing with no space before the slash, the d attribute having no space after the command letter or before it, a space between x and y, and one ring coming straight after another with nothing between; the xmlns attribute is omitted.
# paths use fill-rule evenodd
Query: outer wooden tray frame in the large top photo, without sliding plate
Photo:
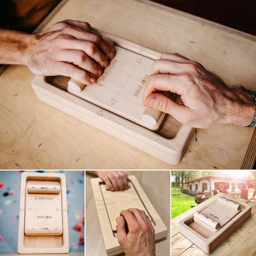
<svg viewBox="0 0 256 256"><path fill-rule="evenodd" d="M161 56L160 53L138 44L134 44L103 31L99 32L102 36L112 39L116 45L132 52L139 53L153 60ZM86 100L82 100L67 91L55 87L46 81L45 76L35 76L31 85L39 100L71 116L75 116L169 164L175 165L180 162L195 130L190 126L181 124L176 136L172 139L168 139Z"/></svg>

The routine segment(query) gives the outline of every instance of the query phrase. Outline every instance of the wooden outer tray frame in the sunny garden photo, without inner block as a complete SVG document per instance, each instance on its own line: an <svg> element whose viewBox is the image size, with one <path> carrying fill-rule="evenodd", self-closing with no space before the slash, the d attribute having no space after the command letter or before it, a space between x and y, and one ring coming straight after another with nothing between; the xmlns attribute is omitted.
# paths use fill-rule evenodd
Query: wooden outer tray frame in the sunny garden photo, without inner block
<svg viewBox="0 0 256 256"><path fill-rule="evenodd" d="M194 213L190 214L185 219L180 220L178 223L180 233L186 236L191 242L196 244L206 253L211 253L218 246L220 246L220 244L222 244L229 236L231 236L236 231L236 229L238 229L251 215L252 206L250 204L246 204L225 194L221 197L240 204L242 211L211 237L205 238L187 225L194 221ZM202 212L204 209L214 204L215 202L217 202L217 199L205 205L203 208L198 210L198 212Z"/></svg>

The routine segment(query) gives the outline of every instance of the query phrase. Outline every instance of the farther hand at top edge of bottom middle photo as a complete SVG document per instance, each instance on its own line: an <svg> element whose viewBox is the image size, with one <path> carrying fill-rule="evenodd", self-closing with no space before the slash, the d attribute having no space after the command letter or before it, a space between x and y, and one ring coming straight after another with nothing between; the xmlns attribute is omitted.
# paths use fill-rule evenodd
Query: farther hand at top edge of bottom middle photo
<svg viewBox="0 0 256 256"><path fill-rule="evenodd" d="M128 188L128 175L123 171L95 171L112 191L123 191Z"/></svg>

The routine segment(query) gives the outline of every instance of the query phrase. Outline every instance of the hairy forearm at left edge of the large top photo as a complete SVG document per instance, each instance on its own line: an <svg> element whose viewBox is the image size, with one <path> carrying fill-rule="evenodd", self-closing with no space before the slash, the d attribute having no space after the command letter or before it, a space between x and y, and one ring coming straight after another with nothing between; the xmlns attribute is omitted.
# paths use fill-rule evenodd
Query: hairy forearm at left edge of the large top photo
<svg viewBox="0 0 256 256"><path fill-rule="evenodd" d="M26 65L33 35L0 28L0 63Z"/></svg>

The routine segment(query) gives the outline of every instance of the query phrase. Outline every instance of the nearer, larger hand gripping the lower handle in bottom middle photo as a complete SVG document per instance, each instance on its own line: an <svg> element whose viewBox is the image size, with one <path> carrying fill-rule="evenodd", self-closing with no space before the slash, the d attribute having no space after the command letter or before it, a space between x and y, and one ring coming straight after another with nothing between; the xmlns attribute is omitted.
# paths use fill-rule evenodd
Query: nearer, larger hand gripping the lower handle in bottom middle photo
<svg viewBox="0 0 256 256"><path fill-rule="evenodd" d="M149 217L139 209L120 212L121 220L116 225L118 243L126 256L155 256L155 229ZM126 221L126 222L125 222ZM128 233L126 233L126 223Z"/></svg>

